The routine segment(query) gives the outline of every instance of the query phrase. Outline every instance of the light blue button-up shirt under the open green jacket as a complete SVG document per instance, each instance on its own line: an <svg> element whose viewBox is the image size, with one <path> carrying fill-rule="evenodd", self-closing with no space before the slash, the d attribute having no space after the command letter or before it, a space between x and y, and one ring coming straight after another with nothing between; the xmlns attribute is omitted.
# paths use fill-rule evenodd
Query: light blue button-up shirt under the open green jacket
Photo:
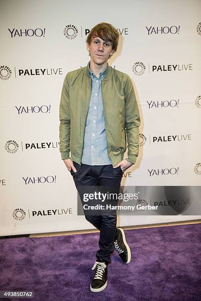
<svg viewBox="0 0 201 301"><path fill-rule="evenodd" d="M108 64L107 64L108 65ZM104 78L107 66L99 73L99 78L90 70L92 92L85 124L84 146L81 162L88 165L112 164L107 154L104 112L102 106L101 80Z"/></svg>

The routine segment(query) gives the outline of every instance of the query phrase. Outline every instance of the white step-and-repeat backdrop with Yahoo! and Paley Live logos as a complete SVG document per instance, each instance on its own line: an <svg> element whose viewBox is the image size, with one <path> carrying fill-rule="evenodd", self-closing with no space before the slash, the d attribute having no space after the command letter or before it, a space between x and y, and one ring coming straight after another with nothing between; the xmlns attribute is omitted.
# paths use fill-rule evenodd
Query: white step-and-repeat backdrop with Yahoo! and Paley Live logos
<svg viewBox="0 0 201 301"><path fill-rule="evenodd" d="M118 225L201 218L200 11L200 0L0 1L0 236L93 228L77 215L59 152L59 103L100 22L120 33L108 62L131 77L141 115L139 156L122 187L144 186L145 205L157 189L179 187L157 199L160 214L120 215Z"/></svg>

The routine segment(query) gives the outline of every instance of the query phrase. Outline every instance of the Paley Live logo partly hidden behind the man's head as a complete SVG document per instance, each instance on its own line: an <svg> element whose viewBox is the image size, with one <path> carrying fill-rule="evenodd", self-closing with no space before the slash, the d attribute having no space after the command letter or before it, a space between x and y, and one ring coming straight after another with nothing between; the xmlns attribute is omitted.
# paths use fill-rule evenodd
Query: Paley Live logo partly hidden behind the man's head
<svg viewBox="0 0 201 301"><path fill-rule="evenodd" d="M81 35L81 37L86 37L91 29L83 27L80 25L79 30L77 25L73 24L67 24L64 28L64 35L68 40L74 40L76 37ZM121 34L121 35L128 35L129 34L129 29L128 28L116 28L116 30Z"/></svg>

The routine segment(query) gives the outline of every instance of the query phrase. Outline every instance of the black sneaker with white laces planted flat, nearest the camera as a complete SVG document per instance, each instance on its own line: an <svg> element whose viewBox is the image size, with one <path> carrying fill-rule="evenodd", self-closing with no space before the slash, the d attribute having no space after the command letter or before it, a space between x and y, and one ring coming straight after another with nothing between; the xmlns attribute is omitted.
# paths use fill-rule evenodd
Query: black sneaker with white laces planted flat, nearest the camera
<svg viewBox="0 0 201 301"><path fill-rule="evenodd" d="M107 265L104 262L96 261L92 270L95 270L90 289L94 293L99 293L107 286Z"/></svg>

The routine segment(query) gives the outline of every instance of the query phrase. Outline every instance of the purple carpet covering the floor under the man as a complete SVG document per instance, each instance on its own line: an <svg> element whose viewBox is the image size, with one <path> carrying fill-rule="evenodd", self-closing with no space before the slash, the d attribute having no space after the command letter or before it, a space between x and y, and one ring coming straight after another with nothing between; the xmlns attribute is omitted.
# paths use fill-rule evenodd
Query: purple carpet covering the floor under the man
<svg viewBox="0 0 201 301"><path fill-rule="evenodd" d="M99 233L1 239L0 290L32 290L34 301L201 300L201 224L125 234L131 263L113 253L100 293L90 291Z"/></svg>

